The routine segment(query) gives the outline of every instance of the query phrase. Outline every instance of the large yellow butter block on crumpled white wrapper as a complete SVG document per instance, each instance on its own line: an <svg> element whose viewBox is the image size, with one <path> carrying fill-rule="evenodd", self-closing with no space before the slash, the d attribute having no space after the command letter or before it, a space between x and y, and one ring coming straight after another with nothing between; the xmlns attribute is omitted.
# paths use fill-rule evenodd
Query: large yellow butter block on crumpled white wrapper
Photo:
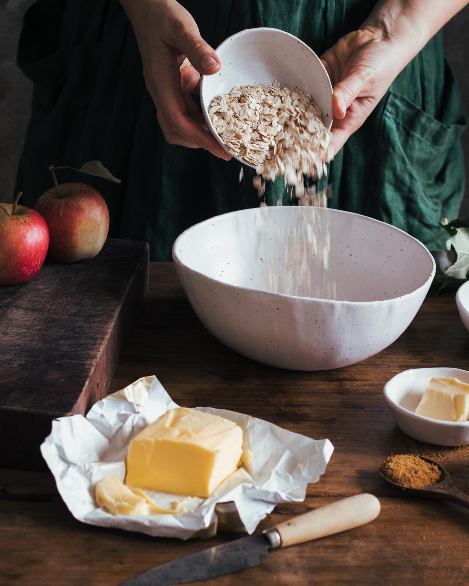
<svg viewBox="0 0 469 586"><path fill-rule="evenodd" d="M237 469L243 430L233 421L179 407L130 442L125 483L175 495L211 495Z"/></svg>

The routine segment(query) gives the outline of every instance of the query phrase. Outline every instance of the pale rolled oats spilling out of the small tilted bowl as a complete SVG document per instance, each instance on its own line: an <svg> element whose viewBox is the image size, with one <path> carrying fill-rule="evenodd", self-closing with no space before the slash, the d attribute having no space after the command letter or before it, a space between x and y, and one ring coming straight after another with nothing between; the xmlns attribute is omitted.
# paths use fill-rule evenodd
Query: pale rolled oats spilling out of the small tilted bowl
<svg viewBox="0 0 469 586"><path fill-rule="evenodd" d="M310 94L282 88L279 81L235 87L212 101L209 116L233 154L255 165L264 181L284 176L298 197L304 195L303 176L321 178L334 154L332 133ZM259 195L264 181L254 178Z"/></svg>

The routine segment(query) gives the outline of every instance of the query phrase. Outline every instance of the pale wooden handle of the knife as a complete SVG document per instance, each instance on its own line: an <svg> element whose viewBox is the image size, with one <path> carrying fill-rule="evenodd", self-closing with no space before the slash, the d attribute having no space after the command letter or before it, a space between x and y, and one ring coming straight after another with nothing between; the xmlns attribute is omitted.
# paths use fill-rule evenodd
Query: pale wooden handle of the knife
<svg viewBox="0 0 469 586"><path fill-rule="evenodd" d="M281 547L293 546L295 543L318 539L369 523L378 517L380 509L376 496L363 493L284 521L276 525L275 529L280 535Z"/></svg>

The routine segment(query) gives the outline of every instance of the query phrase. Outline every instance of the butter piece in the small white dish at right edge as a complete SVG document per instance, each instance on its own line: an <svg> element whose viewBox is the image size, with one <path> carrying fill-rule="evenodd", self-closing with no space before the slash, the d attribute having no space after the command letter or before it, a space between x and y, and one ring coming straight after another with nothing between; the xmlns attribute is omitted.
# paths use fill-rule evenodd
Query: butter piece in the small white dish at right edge
<svg viewBox="0 0 469 586"><path fill-rule="evenodd" d="M467 421L469 384L454 378L431 379L415 413L441 421Z"/></svg>

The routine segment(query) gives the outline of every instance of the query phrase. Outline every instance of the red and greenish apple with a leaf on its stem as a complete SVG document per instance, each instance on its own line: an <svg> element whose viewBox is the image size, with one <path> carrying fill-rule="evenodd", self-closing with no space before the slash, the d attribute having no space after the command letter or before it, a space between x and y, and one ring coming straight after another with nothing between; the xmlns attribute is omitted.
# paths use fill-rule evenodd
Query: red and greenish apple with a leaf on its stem
<svg viewBox="0 0 469 586"><path fill-rule="evenodd" d="M49 254L62 263L95 257L109 230L104 197L84 183L62 183L43 193L35 203L47 222Z"/></svg>

